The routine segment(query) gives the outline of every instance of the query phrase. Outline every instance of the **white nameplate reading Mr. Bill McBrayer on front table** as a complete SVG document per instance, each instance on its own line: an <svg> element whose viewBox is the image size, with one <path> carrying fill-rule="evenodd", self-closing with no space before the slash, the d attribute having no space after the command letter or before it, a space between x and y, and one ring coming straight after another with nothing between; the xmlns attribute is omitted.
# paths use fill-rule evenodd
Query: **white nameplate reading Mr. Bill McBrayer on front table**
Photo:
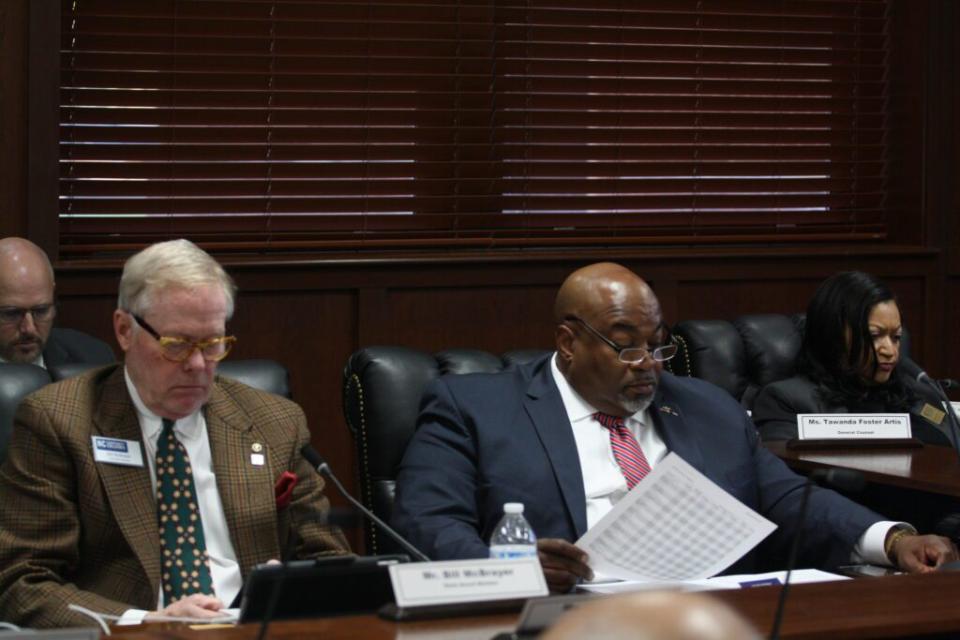
<svg viewBox="0 0 960 640"><path fill-rule="evenodd" d="M398 607L514 600L547 595L536 557L410 562L388 567Z"/></svg>

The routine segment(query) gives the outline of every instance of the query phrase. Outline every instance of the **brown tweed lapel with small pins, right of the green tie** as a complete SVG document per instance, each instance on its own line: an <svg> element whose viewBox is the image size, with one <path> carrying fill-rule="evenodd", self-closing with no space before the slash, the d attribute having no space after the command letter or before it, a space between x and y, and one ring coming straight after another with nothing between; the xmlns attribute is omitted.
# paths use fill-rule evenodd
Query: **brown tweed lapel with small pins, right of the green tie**
<svg viewBox="0 0 960 640"><path fill-rule="evenodd" d="M265 558L280 558L269 443L260 438L250 416L214 385L204 407L217 489L241 572ZM252 454L263 464L253 464ZM269 526L264 526L269 523Z"/></svg>

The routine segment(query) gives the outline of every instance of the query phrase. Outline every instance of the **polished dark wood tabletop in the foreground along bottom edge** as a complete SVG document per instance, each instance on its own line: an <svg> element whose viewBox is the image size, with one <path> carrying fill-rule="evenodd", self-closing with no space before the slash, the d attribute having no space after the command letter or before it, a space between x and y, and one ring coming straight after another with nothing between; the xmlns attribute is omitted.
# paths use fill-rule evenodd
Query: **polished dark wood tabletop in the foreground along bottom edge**
<svg viewBox="0 0 960 640"><path fill-rule="evenodd" d="M715 591L766 636L779 587ZM268 637L278 640L489 640L508 631L516 615L388 622L373 615L277 622ZM257 625L193 630L156 624L114 630L122 640L251 640ZM960 637L960 573L862 578L791 587L782 638Z"/></svg>

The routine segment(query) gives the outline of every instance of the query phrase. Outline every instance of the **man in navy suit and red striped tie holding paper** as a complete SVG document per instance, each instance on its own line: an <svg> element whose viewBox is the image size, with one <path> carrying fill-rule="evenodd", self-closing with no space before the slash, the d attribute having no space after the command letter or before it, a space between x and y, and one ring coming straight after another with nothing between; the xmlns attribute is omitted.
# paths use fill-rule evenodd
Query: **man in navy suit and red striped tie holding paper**
<svg viewBox="0 0 960 640"><path fill-rule="evenodd" d="M662 372L676 345L650 287L620 265L590 265L563 283L554 313L554 354L427 389L397 478L401 534L437 560L485 557L503 504L522 502L548 584L567 590L592 576L573 541L674 452L778 525L730 571L769 568L761 556L782 554L796 532L804 479L759 445L726 392ZM803 536L805 565L930 571L957 557L949 540L822 489Z"/></svg>

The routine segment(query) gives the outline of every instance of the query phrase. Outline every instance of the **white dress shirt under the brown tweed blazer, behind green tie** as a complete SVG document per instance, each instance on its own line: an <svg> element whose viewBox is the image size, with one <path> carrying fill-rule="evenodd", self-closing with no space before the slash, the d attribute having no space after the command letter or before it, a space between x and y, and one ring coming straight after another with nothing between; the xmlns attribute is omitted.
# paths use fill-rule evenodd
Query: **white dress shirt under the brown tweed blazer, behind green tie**
<svg viewBox="0 0 960 640"><path fill-rule="evenodd" d="M150 467L150 484L153 493L157 492L157 440L163 430L163 419L153 413L140 399L137 388L130 379L130 374L124 369L124 379L130 398L137 409L137 418L143 431L144 457ZM213 472L213 461L210 455L210 440L207 437L207 421L203 411L177 420L173 426L177 439L183 443L190 456L190 466L193 469L193 481L197 488L197 506L200 508L200 521L203 523L203 537L210 556L210 577L213 581L214 594L220 598L225 607L230 606L233 599L240 593L243 577L240 574L240 565L237 563L237 554L230 540L230 531L227 528L227 516L223 511L223 502L217 490L217 477ZM159 534L158 534L159 535ZM163 609L163 587L157 599L157 608ZM146 611L131 609L124 613L122 622L135 624L142 621ZM139 620L137 617L139 616Z"/></svg>

